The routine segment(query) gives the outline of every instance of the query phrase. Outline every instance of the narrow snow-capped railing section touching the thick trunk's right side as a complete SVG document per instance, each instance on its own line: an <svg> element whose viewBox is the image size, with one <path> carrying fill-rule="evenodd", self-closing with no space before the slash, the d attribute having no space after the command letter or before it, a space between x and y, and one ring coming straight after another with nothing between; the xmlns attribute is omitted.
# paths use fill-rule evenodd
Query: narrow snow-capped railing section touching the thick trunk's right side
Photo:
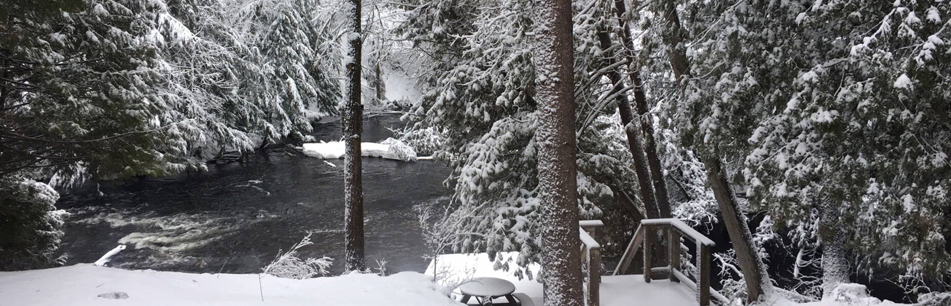
<svg viewBox="0 0 951 306"><path fill-rule="evenodd" d="M601 244L597 242L598 228L604 226L601 220L582 220L578 222L581 239L581 283L585 290L585 304L598 306L601 299Z"/></svg>

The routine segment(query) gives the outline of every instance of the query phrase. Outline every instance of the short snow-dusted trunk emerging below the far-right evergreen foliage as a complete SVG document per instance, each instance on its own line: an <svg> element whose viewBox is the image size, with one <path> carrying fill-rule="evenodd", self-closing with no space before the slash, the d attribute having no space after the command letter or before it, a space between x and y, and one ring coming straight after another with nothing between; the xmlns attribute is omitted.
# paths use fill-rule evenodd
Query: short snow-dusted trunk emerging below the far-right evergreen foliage
<svg viewBox="0 0 951 306"><path fill-rule="evenodd" d="M839 208L829 198L819 203L819 237L823 246L823 297L832 289L848 282L849 265L845 258L845 231L839 229Z"/></svg>

